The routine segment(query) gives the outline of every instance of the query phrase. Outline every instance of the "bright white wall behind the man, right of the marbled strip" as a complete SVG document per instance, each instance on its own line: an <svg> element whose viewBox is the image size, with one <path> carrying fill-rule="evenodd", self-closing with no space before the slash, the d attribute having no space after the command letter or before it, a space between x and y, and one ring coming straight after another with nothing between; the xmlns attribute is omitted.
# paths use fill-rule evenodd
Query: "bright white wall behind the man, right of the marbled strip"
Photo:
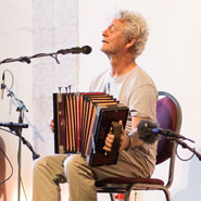
<svg viewBox="0 0 201 201"><path fill-rule="evenodd" d="M108 16L118 9L140 12L148 22L150 36L138 64L154 79L159 90L173 93L183 109L180 134L193 139L201 151L201 2L199 0L80 0L79 1L79 41L89 45L91 54L80 58L79 86L85 90L91 77L103 71L108 59L100 51L101 33L106 27ZM88 73L86 73L88 72ZM84 78L85 77L85 78ZM186 150L179 149L181 156ZM163 168L155 176L163 176ZM189 162L177 160L174 184L171 188L174 201L200 200L201 163L194 156ZM193 183L192 183L193 178ZM158 193L159 194L159 193ZM141 200L163 200L163 193L140 194ZM190 199L191 198L191 199Z"/></svg>

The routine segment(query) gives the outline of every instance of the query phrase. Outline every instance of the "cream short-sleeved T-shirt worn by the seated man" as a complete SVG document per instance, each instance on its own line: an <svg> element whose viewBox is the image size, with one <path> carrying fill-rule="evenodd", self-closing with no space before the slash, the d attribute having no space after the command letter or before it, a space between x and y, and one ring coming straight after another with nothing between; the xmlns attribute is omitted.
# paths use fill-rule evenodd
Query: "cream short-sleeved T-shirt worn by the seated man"
<svg viewBox="0 0 201 201"><path fill-rule="evenodd" d="M111 77L110 70L106 70L91 81L90 91L104 91L112 95L135 111L135 115L156 120L158 90L151 77L139 66L136 66L121 77ZM126 129L130 130L130 122L127 122ZM148 168L153 172L156 158L156 145L145 143L139 148L129 149L130 160L138 152L141 159L147 161Z"/></svg>

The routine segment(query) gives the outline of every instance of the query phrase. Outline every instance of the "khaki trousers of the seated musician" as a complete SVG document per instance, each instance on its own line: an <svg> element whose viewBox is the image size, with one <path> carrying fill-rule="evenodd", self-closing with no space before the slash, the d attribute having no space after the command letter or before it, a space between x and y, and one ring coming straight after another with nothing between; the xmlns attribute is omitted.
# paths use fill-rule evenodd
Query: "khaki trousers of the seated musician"
<svg viewBox="0 0 201 201"><path fill-rule="evenodd" d="M39 159L34 165L33 201L60 201L60 183L65 176L70 190L70 201L97 201L95 180L108 176L148 177L147 163L136 154L130 161L128 153L120 154L116 165L89 167L84 158L77 154L50 155Z"/></svg>

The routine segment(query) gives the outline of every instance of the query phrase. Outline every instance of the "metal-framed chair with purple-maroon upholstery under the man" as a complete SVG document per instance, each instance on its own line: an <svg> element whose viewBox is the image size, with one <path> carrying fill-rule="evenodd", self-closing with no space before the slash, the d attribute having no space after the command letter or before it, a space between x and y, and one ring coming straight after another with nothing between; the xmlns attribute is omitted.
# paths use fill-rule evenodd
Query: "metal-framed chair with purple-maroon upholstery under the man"
<svg viewBox="0 0 201 201"><path fill-rule="evenodd" d="M162 97L162 98L161 98ZM156 118L161 128L171 129L177 134L181 126L181 109L177 100L169 93L159 91ZM111 201L113 193L124 193L125 201L129 200L131 190L162 190L166 201L172 201L168 188L173 184L176 142L163 136L158 143L156 165L169 159L168 178L166 184L160 178L109 177L96 183L98 192L109 192Z"/></svg>

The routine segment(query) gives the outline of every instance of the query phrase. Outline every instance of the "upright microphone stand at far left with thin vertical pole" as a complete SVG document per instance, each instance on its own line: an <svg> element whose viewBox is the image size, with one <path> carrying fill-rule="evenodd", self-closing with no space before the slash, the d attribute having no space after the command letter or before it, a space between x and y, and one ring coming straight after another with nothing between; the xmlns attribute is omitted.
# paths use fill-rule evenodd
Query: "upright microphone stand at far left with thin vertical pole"
<svg viewBox="0 0 201 201"><path fill-rule="evenodd" d="M12 100L14 100L16 108L16 111L20 112L18 115L18 124L23 124L24 122L24 112L28 112L27 108L23 103L22 100L17 99L13 91L9 90L8 87L4 84L1 84L1 87L5 88L8 90L8 97L11 97ZM17 171L17 201L21 201L21 164L22 164L22 141L25 143L29 150L33 152L33 159L39 158L38 154L36 154L30 146L30 143L25 140L25 138L22 136L22 127L11 127L16 134L16 136L20 138L18 139L18 151L17 151L17 162L18 162L18 171Z"/></svg>

